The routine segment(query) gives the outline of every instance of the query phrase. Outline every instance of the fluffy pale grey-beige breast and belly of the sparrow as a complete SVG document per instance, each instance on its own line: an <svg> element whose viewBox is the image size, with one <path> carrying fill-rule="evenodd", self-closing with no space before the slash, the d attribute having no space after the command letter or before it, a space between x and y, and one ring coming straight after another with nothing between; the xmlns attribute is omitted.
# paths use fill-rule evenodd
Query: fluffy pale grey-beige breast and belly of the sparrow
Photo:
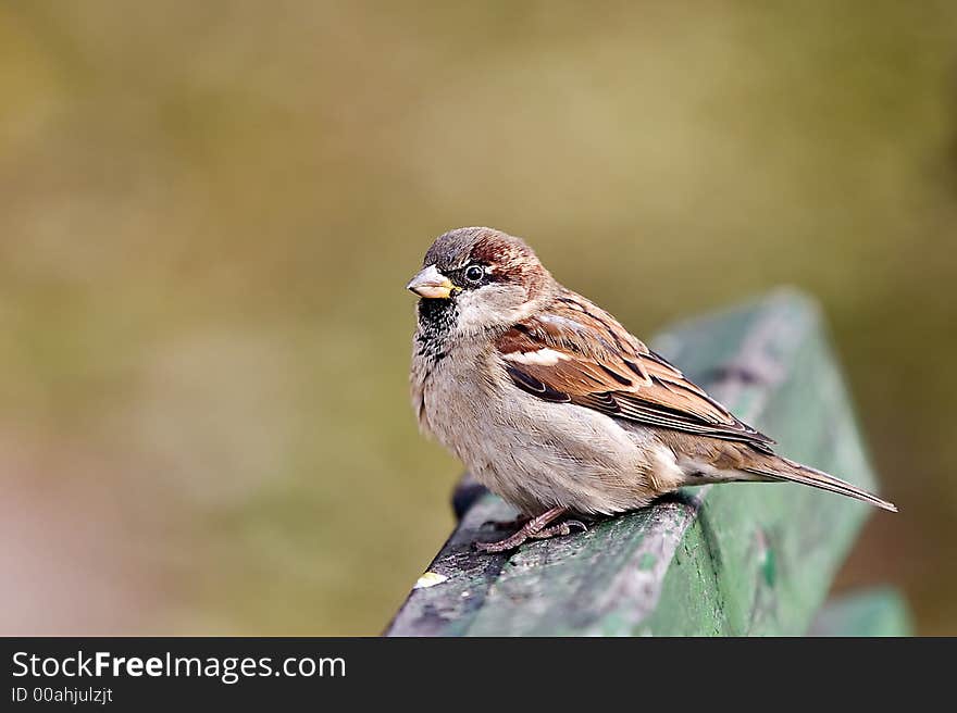
<svg viewBox="0 0 957 713"><path fill-rule="evenodd" d="M439 442L526 512L561 504L610 513L649 497L649 433L525 393L493 354L449 352L422 380L422 410Z"/></svg>

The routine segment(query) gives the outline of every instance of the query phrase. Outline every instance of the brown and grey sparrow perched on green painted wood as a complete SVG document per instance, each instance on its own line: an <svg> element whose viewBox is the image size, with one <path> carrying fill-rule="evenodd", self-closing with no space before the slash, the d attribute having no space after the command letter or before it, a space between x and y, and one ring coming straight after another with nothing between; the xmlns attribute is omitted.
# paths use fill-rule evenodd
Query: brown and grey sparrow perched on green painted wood
<svg viewBox="0 0 957 713"><path fill-rule="evenodd" d="M489 227L435 239L419 297L410 390L420 430L520 513L504 552L586 529L684 486L793 481L897 508L774 451L587 298L521 238Z"/></svg>

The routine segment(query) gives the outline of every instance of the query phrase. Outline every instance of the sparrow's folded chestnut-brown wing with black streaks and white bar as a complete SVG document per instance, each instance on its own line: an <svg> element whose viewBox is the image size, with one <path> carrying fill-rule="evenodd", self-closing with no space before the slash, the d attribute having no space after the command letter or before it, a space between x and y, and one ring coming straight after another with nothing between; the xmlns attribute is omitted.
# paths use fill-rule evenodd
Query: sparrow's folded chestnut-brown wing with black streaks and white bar
<svg viewBox="0 0 957 713"><path fill-rule="evenodd" d="M496 348L515 386L540 399L767 452L774 442L574 292L563 292L544 313L515 324Z"/></svg>

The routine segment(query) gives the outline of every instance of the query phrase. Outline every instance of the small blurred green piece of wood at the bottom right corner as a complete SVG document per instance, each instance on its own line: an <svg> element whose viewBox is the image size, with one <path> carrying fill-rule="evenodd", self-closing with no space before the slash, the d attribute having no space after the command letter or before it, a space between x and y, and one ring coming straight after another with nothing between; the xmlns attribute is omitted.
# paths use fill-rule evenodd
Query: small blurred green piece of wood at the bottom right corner
<svg viewBox="0 0 957 713"><path fill-rule="evenodd" d="M829 601L815 618L811 636L912 636L904 599L879 587Z"/></svg>

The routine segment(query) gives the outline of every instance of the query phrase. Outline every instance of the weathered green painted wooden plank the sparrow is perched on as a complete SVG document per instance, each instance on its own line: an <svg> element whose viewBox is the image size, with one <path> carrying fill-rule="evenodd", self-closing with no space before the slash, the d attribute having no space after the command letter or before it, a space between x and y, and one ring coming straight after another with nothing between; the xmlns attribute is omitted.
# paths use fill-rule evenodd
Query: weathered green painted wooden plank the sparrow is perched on
<svg viewBox="0 0 957 713"><path fill-rule="evenodd" d="M652 346L782 453L874 487L808 298L775 292L680 324ZM803 635L870 514L798 485L704 486L587 533L486 554L470 547L493 539L483 523L514 512L485 493L386 635Z"/></svg>

